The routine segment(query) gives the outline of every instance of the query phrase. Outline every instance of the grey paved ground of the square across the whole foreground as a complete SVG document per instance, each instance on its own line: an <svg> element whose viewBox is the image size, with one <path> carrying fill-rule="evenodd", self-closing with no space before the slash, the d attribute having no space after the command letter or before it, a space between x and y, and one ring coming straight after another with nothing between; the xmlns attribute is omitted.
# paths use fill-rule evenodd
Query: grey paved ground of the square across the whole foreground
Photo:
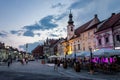
<svg viewBox="0 0 120 80"><path fill-rule="evenodd" d="M4 64L0 66L0 80L120 80L119 73L110 75L95 72L91 75L86 70L75 72L72 68L63 69L60 66L56 71L53 67L53 64L41 64L40 61L25 65L14 62L10 67Z"/></svg>

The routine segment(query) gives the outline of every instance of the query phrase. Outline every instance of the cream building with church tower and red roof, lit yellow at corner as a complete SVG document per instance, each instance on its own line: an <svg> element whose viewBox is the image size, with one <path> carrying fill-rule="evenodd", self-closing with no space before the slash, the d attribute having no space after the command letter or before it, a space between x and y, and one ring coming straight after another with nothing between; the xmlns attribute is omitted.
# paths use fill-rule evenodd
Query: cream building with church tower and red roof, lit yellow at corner
<svg viewBox="0 0 120 80"><path fill-rule="evenodd" d="M64 54L78 53L81 51L89 51L96 49L95 35L94 32L99 24L97 15L87 23L74 29L74 22L72 20L72 14L69 14L69 21L67 26L67 38L63 42Z"/></svg>

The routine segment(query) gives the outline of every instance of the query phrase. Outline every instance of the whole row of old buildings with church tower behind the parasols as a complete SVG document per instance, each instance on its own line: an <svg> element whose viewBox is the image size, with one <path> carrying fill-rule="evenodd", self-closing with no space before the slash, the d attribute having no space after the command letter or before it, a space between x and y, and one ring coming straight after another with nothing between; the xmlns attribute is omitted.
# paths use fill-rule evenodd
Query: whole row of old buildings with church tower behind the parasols
<svg viewBox="0 0 120 80"><path fill-rule="evenodd" d="M95 15L76 29L72 18L70 12L65 39L46 40L43 48L46 55L68 55L102 48L120 49L120 13L112 14L104 21Z"/></svg>

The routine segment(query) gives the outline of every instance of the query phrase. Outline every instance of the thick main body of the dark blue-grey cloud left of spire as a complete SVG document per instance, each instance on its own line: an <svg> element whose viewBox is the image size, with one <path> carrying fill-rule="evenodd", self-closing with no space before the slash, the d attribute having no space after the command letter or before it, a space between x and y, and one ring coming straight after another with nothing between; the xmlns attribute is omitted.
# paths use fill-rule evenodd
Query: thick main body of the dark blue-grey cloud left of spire
<svg viewBox="0 0 120 80"><path fill-rule="evenodd" d="M53 15L48 15L42 18L38 23L24 26L23 29L26 29L27 31L53 29L58 26L53 21L55 21L55 17Z"/></svg>

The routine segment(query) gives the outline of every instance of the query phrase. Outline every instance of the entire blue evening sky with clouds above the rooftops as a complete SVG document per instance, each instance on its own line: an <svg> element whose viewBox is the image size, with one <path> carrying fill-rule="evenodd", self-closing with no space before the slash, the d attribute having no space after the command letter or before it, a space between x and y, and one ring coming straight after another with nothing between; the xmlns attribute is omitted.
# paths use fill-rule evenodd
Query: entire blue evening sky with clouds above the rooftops
<svg viewBox="0 0 120 80"><path fill-rule="evenodd" d="M0 41L32 50L48 38L66 37L69 10L75 27L98 14L100 20L120 12L120 0L0 0ZM31 47L34 45L34 47Z"/></svg>

